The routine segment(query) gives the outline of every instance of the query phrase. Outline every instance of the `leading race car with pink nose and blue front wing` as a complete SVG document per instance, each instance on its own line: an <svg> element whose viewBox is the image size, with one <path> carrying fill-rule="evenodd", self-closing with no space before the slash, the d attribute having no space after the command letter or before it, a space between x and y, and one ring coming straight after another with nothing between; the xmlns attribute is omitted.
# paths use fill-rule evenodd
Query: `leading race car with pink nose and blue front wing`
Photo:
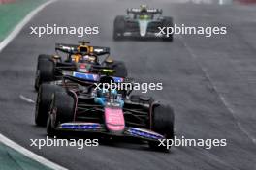
<svg viewBox="0 0 256 170"><path fill-rule="evenodd" d="M110 79L114 81L103 76L100 82ZM63 83L65 88L49 84L40 87L54 89L47 121L49 136L63 131L97 132L139 138L153 149L168 151L159 146L159 140L174 138L174 111L170 106L130 95L131 91L95 89L71 76L64 76Z"/></svg>

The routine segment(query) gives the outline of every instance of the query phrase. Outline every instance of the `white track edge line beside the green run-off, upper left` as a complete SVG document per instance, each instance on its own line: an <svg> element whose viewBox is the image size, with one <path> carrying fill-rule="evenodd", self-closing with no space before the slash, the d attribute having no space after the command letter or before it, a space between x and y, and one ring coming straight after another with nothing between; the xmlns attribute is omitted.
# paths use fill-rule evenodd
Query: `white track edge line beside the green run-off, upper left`
<svg viewBox="0 0 256 170"><path fill-rule="evenodd" d="M41 10L43 10L45 7L47 7L52 2L55 2L56 0L49 0L48 2L42 4L35 10L33 10L31 13L27 14L23 20L21 20L15 27L15 29L5 38L2 42L0 42L0 52L10 43L12 42L18 33L22 30L22 28Z"/></svg>

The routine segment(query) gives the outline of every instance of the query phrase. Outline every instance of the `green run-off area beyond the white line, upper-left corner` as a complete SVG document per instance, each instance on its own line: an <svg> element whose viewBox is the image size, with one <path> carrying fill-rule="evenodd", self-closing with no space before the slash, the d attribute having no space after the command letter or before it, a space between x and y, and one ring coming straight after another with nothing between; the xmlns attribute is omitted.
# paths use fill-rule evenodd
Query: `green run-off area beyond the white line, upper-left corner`
<svg viewBox="0 0 256 170"><path fill-rule="evenodd" d="M47 0L16 0L0 5L0 42L14 29L16 24L33 9Z"/></svg>

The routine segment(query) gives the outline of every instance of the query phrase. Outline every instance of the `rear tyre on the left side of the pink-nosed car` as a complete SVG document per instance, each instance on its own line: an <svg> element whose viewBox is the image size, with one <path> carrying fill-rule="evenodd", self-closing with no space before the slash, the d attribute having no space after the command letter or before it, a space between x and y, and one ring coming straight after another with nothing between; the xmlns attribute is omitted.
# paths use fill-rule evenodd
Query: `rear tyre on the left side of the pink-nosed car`
<svg viewBox="0 0 256 170"><path fill-rule="evenodd" d="M35 111L35 123L37 126L45 127L47 125L48 111L52 95L54 92L62 91L64 91L64 89L56 85L42 84L40 86Z"/></svg>

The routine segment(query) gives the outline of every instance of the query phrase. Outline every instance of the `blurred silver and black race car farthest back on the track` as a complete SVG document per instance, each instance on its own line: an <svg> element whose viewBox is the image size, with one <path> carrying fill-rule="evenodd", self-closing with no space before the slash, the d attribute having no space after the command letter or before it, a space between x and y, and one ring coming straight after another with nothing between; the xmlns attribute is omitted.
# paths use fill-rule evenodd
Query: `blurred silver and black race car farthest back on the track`
<svg viewBox="0 0 256 170"><path fill-rule="evenodd" d="M118 15L113 23L113 39L125 37L158 38L163 41L173 41L173 35L160 34L158 27L173 27L173 18L162 16L160 9L148 9L142 5L140 9L127 9L127 15Z"/></svg>

